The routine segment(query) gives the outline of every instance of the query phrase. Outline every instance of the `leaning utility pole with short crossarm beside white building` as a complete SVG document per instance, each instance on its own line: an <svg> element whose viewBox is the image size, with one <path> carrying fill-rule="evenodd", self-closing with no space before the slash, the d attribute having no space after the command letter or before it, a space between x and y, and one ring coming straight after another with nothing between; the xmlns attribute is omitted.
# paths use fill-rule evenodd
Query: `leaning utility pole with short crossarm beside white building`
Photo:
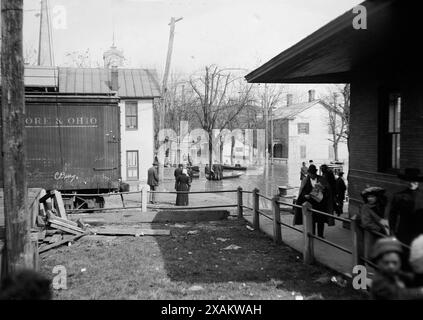
<svg viewBox="0 0 423 320"><path fill-rule="evenodd" d="M167 80L169 78L169 71L170 71L170 62L172 60L172 51L173 51L173 39L175 37L175 25L178 21L181 21L183 18L175 19L172 17L170 19L170 33L169 33L169 43L167 48L167 57L166 57L166 66L163 75L163 83L162 83L162 97L160 103L160 110L159 110L159 132L164 129L165 125L165 113L166 113L166 94L167 94ZM160 145L160 141L159 141ZM164 168L162 165L159 165L159 178L163 178Z"/></svg>

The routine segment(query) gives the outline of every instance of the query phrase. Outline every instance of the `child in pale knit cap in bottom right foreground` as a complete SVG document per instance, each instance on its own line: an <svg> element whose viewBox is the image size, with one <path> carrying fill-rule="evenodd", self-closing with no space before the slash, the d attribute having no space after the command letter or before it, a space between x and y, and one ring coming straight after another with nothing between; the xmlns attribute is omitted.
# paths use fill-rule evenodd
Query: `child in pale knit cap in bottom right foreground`
<svg viewBox="0 0 423 320"><path fill-rule="evenodd" d="M370 288L373 300L423 300L423 287L412 287L412 275L401 271L402 253L402 245L394 237L375 243L371 253L376 265Z"/></svg>

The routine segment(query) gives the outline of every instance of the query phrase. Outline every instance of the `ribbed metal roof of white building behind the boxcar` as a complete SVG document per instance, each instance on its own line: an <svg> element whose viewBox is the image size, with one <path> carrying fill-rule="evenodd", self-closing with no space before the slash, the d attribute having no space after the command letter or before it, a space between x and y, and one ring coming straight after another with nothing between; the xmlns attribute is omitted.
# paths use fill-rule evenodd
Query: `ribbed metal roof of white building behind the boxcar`
<svg viewBox="0 0 423 320"><path fill-rule="evenodd" d="M59 92L73 94L111 93L111 70L105 68L59 68ZM160 97L157 72L151 69L118 69L121 98Z"/></svg>

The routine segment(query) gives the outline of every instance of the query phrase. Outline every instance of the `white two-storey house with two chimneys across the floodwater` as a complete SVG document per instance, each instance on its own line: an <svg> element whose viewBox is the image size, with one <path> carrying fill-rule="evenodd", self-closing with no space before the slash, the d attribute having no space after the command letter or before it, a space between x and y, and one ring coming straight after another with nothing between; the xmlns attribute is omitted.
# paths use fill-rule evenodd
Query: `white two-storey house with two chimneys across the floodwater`
<svg viewBox="0 0 423 320"><path fill-rule="evenodd" d="M307 102L294 104L292 100L292 95L288 94L286 105L280 106L273 113L274 158L298 163L308 162L309 159L316 163L334 161L335 152L329 126L331 106L323 100L315 99L314 90L309 91ZM341 121L339 115L336 117ZM338 144L338 160L348 160L345 140Z"/></svg>

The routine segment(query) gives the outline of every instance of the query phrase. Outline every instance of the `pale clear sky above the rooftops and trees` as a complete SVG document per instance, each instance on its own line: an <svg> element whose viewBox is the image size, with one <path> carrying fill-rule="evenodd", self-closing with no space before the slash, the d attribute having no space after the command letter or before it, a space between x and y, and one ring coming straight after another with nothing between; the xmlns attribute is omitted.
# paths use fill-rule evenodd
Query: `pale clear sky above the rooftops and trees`
<svg viewBox="0 0 423 320"><path fill-rule="evenodd" d="M171 70L188 75L210 64L253 70L360 2L49 0L49 7L56 65L69 62L66 53L87 49L102 63L114 32L128 67L154 68L159 74L170 18L183 17L176 24ZM24 0L24 50L38 48L39 7L38 0ZM56 21L62 23L55 26Z"/></svg>

